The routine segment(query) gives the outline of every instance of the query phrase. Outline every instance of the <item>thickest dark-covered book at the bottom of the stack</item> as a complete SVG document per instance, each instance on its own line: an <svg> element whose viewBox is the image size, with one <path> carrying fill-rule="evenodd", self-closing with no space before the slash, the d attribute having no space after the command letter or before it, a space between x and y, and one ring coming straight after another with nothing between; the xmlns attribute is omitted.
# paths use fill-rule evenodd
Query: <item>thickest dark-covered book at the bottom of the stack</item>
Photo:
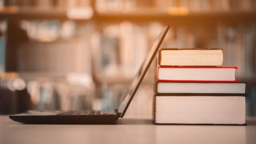
<svg viewBox="0 0 256 144"><path fill-rule="evenodd" d="M156 94L154 124L246 125L245 94Z"/></svg>

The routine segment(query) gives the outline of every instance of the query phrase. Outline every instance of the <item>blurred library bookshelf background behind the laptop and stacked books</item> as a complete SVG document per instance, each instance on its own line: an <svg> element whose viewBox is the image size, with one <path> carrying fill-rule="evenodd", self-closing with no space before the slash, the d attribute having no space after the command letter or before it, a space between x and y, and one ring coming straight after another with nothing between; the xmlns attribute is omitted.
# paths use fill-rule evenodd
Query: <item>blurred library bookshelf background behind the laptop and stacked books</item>
<svg viewBox="0 0 256 144"><path fill-rule="evenodd" d="M256 0L0 0L0 114L117 108L161 48L223 48L256 115ZM151 117L157 58L125 117Z"/></svg>

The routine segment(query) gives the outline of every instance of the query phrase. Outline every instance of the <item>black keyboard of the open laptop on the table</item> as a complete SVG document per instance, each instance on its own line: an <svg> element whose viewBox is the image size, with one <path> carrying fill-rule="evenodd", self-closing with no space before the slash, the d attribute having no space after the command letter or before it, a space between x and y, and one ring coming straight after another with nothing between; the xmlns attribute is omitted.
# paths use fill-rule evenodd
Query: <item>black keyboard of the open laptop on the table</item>
<svg viewBox="0 0 256 144"><path fill-rule="evenodd" d="M79 111L35 111L30 110L28 113L17 115L114 115L117 113L95 110L79 110Z"/></svg>

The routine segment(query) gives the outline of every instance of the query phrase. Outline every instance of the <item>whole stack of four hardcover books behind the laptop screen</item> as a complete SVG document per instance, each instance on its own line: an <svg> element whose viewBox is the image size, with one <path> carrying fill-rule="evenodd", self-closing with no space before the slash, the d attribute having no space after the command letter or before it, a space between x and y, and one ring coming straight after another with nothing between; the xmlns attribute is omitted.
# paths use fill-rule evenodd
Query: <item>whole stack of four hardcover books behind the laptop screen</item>
<svg viewBox="0 0 256 144"><path fill-rule="evenodd" d="M245 125L245 83L222 49L161 49L154 124Z"/></svg>

